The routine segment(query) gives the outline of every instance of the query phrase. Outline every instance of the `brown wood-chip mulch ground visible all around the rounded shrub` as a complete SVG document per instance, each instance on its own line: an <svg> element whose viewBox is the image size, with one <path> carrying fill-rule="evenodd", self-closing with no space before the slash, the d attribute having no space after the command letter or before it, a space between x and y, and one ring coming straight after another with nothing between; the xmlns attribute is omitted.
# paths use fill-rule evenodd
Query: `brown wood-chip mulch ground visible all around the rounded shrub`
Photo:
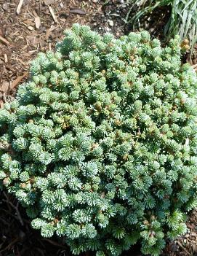
<svg viewBox="0 0 197 256"><path fill-rule="evenodd" d="M126 23L127 0L0 0L0 108L15 97L17 86L28 79L31 60L40 51L52 50L73 23L87 24L100 34L115 36L132 30ZM18 13L17 13L18 12ZM152 36L163 39L162 29L169 9L153 13L143 23ZM132 15L132 13L130 13ZM195 53L196 55L196 53ZM193 58L192 63L196 63ZM188 233L168 242L163 255L197 256L197 212L190 213ZM16 199L0 193L0 256L71 256L68 247L56 237L42 238ZM140 246L124 255L140 256Z"/></svg>

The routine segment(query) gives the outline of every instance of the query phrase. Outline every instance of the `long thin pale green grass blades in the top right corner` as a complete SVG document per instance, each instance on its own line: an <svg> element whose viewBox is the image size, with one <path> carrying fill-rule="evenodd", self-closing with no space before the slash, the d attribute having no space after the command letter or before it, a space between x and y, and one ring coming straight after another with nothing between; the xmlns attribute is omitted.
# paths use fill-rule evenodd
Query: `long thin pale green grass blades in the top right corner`
<svg viewBox="0 0 197 256"><path fill-rule="evenodd" d="M197 0L129 0L132 7L127 14L126 20L133 28L139 27L140 19L159 7L169 6L170 18L164 27L166 39L180 35L180 39L188 39L190 53L197 42ZM137 10L135 15L130 14Z"/></svg>

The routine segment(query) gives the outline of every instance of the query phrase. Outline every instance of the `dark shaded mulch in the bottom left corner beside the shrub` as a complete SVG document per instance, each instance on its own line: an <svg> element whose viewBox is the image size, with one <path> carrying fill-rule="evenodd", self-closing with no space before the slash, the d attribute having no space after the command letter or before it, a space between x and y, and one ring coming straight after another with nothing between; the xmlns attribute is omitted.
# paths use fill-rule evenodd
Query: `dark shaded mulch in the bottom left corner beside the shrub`
<svg viewBox="0 0 197 256"><path fill-rule="evenodd" d="M71 256L60 239L43 238L31 228L31 221L17 200L0 193L0 255L1 256Z"/></svg>

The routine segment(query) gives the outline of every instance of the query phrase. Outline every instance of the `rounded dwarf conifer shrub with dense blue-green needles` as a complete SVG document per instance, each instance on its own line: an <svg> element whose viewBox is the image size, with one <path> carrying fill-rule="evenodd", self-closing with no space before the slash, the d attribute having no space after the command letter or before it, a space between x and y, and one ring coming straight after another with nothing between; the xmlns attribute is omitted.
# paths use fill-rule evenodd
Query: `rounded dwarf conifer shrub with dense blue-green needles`
<svg viewBox="0 0 197 256"><path fill-rule="evenodd" d="M197 206L197 78L180 42L73 25L0 111L1 187L74 255L158 255Z"/></svg>

